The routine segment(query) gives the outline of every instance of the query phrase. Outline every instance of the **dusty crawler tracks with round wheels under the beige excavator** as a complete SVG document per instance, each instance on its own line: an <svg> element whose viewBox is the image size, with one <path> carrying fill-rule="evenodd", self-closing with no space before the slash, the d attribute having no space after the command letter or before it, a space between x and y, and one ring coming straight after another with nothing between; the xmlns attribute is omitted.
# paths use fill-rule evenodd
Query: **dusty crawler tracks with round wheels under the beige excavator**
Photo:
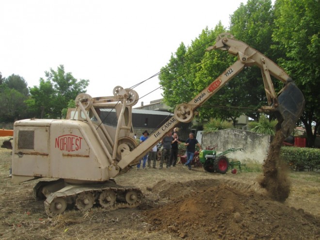
<svg viewBox="0 0 320 240"><path fill-rule="evenodd" d="M133 187L117 185L113 180L99 184L76 185L63 179L40 181L33 188L36 200L46 198L45 211L49 217L61 214L68 206L75 205L85 212L94 205L107 210L135 208L142 201L142 192Z"/></svg>

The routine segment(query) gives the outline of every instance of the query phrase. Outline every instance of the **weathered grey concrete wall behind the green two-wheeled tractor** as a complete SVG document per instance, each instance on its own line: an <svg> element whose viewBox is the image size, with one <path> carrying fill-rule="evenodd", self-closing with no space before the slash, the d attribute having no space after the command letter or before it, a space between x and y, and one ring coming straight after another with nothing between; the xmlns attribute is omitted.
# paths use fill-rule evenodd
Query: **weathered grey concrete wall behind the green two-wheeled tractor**
<svg viewBox="0 0 320 240"><path fill-rule="evenodd" d="M236 151L227 155L233 160L241 162L263 163L266 159L272 136L260 133L244 131L240 129L225 129L212 133L203 133L202 148L215 146L218 153L228 148L243 148L242 152Z"/></svg>

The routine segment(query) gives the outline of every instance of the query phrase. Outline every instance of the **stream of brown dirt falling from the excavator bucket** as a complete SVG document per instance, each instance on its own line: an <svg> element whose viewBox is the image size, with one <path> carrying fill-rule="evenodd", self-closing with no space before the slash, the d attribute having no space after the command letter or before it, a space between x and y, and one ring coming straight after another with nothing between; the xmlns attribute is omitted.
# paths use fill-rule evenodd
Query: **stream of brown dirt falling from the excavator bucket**
<svg viewBox="0 0 320 240"><path fill-rule="evenodd" d="M280 130L275 133L269 147L268 157L263 164L263 176L259 180L260 186L279 202L286 201L290 193L287 167L280 159L280 149L284 139Z"/></svg>

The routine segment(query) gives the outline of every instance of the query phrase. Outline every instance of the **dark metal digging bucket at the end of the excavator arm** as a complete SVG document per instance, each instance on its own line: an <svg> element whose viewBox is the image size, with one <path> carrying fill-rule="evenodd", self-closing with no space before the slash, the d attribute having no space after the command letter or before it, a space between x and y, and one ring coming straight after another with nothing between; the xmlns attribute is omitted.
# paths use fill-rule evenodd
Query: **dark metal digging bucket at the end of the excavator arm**
<svg viewBox="0 0 320 240"><path fill-rule="evenodd" d="M304 95L300 89L293 82L289 82L278 96L278 107L275 109L278 119L276 129L281 129L285 137L288 137L295 128L304 111L304 104Z"/></svg>

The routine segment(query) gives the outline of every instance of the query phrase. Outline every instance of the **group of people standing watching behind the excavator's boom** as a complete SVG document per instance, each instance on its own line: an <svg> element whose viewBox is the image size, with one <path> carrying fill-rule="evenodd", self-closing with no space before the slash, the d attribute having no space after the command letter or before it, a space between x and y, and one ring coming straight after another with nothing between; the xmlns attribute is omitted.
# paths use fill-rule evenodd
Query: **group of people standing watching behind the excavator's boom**
<svg viewBox="0 0 320 240"><path fill-rule="evenodd" d="M173 131L167 133L165 137L162 138L162 154L160 159L159 169L163 168L163 163L166 164L166 168L175 167L178 160L178 144L182 142L178 138L178 128L174 128ZM140 144L143 144L144 141L148 139L148 131L145 130L143 135L140 137ZM201 145L194 138L194 134L191 132L189 138L186 140L185 144L187 152L187 162L184 164L184 167L188 167L191 170L191 163L195 152L195 146L197 145L201 150ZM157 145L155 145L144 157L143 157L143 169L146 169L146 162L148 160L148 167L151 168L151 161L153 161L152 167L156 169L157 163ZM141 160L137 164L137 170L140 169Z"/></svg>

